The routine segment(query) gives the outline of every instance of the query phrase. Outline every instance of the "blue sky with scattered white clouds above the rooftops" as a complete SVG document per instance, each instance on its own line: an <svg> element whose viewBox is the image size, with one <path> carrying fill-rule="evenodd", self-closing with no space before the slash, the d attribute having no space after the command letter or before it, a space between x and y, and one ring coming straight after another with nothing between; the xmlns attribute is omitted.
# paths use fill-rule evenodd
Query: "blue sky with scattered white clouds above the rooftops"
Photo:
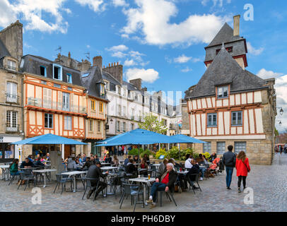
<svg viewBox="0 0 287 226"><path fill-rule="evenodd" d="M276 3L275 3L276 2ZM251 4L253 20L245 20ZM148 90L182 91L206 70L204 47L233 16L247 39L247 70L276 78L277 117L287 127L286 1L256 0L0 0L0 29L24 25L24 54L62 54L81 61L101 55L124 65L124 78L141 77ZM279 124L276 124L279 128Z"/></svg>

